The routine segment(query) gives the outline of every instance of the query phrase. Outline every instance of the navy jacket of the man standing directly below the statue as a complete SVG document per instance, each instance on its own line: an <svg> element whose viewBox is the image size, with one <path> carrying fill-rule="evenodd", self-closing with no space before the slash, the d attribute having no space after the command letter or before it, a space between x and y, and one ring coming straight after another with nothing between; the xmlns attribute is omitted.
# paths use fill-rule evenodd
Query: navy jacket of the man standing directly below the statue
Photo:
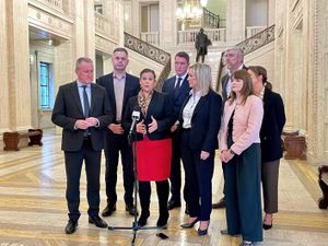
<svg viewBox="0 0 328 246"><path fill-rule="evenodd" d="M183 81L181 86L178 89L178 93L175 93L175 91L174 91L175 81L176 81L176 75L171 77L169 79L165 80L163 87L162 87L162 92L169 95L169 97L173 102L173 105L174 105L174 114L176 115L176 117L178 117L181 106L183 106L185 99L189 95L190 87L189 87L189 83L188 83L188 75L186 75L185 80Z"/></svg>

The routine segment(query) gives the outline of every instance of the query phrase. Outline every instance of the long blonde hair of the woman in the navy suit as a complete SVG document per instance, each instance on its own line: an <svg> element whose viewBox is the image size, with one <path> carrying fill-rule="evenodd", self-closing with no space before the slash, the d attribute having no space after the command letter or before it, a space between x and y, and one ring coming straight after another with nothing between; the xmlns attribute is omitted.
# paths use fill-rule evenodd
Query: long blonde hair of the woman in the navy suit
<svg viewBox="0 0 328 246"><path fill-rule="evenodd" d="M189 67L189 70L197 79L201 95L207 95L212 89L211 67L204 63L195 63Z"/></svg>

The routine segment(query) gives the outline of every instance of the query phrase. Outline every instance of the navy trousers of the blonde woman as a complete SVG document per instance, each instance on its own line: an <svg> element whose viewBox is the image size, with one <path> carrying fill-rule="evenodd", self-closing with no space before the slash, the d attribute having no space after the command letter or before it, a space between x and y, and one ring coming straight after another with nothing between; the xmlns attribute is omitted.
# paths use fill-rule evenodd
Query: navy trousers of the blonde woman
<svg viewBox="0 0 328 246"><path fill-rule="evenodd" d="M212 212L214 151L210 153L207 160L201 160L201 150L191 150L189 138L190 131L183 130L180 148L188 187L188 208L190 216L198 216L201 221L208 221Z"/></svg>

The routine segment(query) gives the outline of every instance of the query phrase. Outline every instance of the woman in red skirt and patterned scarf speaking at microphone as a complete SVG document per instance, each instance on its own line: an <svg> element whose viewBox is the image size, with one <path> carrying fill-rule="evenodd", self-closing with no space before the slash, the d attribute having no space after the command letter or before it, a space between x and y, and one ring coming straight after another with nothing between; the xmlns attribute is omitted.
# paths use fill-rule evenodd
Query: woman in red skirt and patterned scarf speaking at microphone
<svg viewBox="0 0 328 246"><path fill-rule="evenodd" d="M166 94L154 91L155 72L143 69L140 73L139 94L132 97L125 112L122 126L125 130L131 127L133 112L140 112L140 119L133 129L132 141L137 154L137 172L139 181L139 197L141 215L138 220L140 226L147 224L150 216L150 181L156 183L160 216L157 226L167 224L168 210L168 180L171 173L171 138L169 129L176 118L173 114L173 105ZM134 149L134 148L133 148Z"/></svg>

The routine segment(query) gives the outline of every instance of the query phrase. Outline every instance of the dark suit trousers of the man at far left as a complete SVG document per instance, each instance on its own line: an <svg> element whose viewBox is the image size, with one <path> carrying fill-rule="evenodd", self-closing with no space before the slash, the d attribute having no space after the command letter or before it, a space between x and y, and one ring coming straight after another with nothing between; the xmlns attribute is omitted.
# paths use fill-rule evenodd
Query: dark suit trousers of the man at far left
<svg viewBox="0 0 328 246"><path fill-rule="evenodd" d="M68 202L69 218L79 220L80 206L80 177L83 160L86 174L86 198L89 202L89 215L99 212L99 176L101 176L101 151L94 151L89 140L83 142L80 151L65 152L65 165L67 175L66 199Z"/></svg>

